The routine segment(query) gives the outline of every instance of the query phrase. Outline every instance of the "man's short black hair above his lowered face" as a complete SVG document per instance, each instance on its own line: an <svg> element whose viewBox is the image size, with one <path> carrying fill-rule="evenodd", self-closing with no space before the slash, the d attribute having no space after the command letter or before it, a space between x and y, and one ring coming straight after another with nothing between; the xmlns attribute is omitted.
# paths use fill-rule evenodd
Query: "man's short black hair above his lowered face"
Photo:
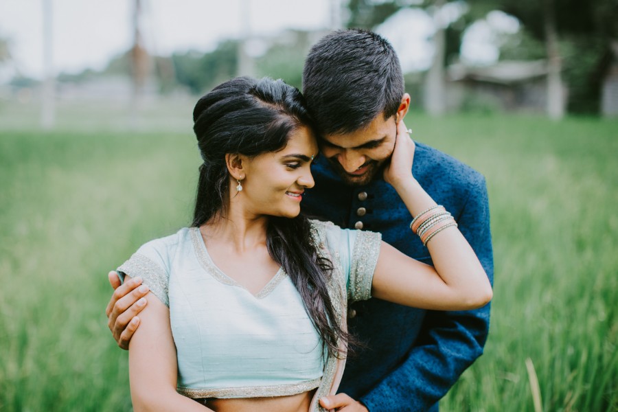
<svg viewBox="0 0 618 412"><path fill-rule="evenodd" d="M305 60L303 94L322 134L351 133L380 113L395 115L404 93L399 58L367 30L332 32Z"/></svg>

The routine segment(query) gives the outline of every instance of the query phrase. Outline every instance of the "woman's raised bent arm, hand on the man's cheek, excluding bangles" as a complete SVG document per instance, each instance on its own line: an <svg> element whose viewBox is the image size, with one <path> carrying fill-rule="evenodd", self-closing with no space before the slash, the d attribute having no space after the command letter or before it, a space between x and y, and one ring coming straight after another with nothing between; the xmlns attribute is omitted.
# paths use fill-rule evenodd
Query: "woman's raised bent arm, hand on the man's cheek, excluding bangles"
<svg viewBox="0 0 618 412"><path fill-rule="evenodd" d="M414 142L398 124L395 149L385 180L398 192L412 216L434 207L412 176ZM410 236L416 236L410 231ZM492 288L477 255L457 227L435 234L426 244L433 266L409 258L382 243L371 295L397 304L434 310L469 310L492 299Z"/></svg>

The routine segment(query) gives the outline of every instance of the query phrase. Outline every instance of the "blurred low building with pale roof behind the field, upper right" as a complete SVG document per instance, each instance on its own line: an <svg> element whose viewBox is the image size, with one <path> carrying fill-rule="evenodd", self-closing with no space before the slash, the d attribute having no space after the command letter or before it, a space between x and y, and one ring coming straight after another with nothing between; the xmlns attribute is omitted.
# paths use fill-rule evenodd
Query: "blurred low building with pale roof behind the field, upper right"
<svg viewBox="0 0 618 412"><path fill-rule="evenodd" d="M503 61L485 67L452 65L447 71L446 100L450 111L545 113L547 62Z"/></svg>

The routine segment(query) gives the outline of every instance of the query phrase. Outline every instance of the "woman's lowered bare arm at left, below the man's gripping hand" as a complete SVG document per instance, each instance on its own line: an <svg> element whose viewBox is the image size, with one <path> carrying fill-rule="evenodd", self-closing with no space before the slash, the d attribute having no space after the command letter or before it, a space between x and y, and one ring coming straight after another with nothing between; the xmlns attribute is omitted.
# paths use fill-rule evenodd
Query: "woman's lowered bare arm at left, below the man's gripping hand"
<svg viewBox="0 0 618 412"><path fill-rule="evenodd" d="M176 346L170 310L148 293L139 329L129 343L129 377L133 409L141 411L211 411L176 392Z"/></svg>

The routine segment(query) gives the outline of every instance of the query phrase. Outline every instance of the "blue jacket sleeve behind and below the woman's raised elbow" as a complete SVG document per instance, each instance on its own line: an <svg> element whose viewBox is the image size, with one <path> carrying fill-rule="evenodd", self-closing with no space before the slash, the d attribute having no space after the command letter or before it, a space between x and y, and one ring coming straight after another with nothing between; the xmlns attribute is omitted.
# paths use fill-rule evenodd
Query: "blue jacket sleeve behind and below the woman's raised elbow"
<svg viewBox="0 0 618 412"><path fill-rule="evenodd" d="M470 184L457 223L493 284L488 196L480 174ZM361 402L371 412L428 411L481 356L489 323L490 304L469 311L428 311L407 359L362 396Z"/></svg>

